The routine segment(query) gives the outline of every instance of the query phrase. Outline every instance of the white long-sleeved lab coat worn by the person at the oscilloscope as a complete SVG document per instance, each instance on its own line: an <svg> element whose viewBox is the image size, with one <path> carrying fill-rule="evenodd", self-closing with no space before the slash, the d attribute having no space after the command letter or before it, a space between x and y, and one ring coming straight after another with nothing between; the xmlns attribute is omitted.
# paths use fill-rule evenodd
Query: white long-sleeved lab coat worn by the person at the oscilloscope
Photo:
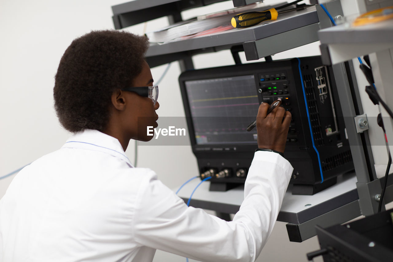
<svg viewBox="0 0 393 262"><path fill-rule="evenodd" d="M0 201L0 258L150 262L161 249L202 261L254 261L292 170L279 154L257 151L244 201L227 222L187 207L154 171L133 168L116 138L85 130L13 179Z"/></svg>

